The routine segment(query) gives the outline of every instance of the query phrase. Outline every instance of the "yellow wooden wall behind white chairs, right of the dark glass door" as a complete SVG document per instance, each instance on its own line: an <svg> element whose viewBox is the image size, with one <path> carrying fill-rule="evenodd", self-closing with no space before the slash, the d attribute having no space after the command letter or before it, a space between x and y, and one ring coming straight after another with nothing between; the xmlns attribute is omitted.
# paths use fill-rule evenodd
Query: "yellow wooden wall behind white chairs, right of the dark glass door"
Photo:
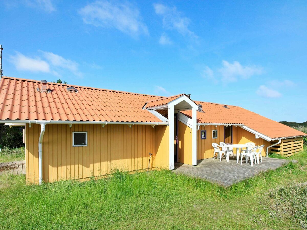
<svg viewBox="0 0 307 230"><path fill-rule="evenodd" d="M248 132L247 130L241 128L241 127L232 127L233 131L233 143L234 144L245 144L247 142L253 142L256 145L263 145L263 150L262 150L262 156L266 155L266 147L270 146L270 142L266 141L262 138L256 138L255 134ZM234 153L236 150L234 149Z"/></svg>

